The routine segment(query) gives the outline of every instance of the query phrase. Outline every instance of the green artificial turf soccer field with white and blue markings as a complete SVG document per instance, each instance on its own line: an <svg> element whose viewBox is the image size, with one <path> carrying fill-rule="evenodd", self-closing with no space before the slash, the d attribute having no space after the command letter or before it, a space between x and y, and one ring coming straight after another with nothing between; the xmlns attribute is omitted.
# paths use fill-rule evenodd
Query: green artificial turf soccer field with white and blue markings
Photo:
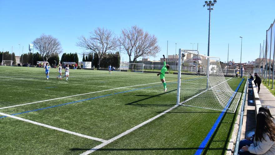
<svg viewBox="0 0 275 155"><path fill-rule="evenodd" d="M59 80L52 68L47 80L42 68L0 66L1 155L193 155L221 114L175 106L177 75L165 75L164 92L156 74L70 71ZM242 92L242 79L226 80ZM202 154L225 154L235 118L222 116Z"/></svg>

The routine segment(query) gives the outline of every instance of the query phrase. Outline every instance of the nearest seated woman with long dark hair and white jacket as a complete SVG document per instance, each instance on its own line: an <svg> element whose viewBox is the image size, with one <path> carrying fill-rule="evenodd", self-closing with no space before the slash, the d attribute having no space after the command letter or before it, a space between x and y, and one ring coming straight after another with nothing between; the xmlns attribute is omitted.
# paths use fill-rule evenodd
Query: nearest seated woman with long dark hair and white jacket
<svg viewBox="0 0 275 155"><path fill-rule="evenodd" d="M267 112L259 112L256 116L256 131L253 143L242 147L240 154L275 154L275 124Z"/></svg>

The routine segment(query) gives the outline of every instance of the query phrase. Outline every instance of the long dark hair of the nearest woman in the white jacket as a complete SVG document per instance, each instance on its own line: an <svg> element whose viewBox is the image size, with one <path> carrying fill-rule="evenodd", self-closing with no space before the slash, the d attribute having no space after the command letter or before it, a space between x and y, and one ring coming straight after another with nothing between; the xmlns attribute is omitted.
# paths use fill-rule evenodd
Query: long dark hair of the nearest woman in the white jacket
<svg viewBox="0 0 275 155"><path fill-rule="evenodd" d="M262 142L264 134L267 134L270 140L275 141L275 124L267 112L257 114L257 123L255 131L255 140Z"/></svg>

